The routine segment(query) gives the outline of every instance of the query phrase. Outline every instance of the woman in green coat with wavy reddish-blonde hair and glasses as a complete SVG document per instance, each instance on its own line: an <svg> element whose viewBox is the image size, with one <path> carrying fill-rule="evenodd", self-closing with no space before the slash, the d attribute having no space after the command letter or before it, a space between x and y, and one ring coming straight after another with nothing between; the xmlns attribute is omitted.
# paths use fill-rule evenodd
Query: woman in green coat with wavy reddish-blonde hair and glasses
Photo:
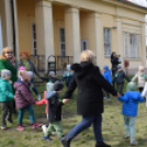
<svg viewBox="0 0 147 147"><path fill-rule="evenodd" d="M11 71L11 81L12 86L18 80L18 69L16 69L16 63L13 55L13 50L11 47L5 47L1 52L0 56L0 71L2 69L8 69ZM13 94L15 93L15 90L13 88ZM15 102L13 102L13 113L16 114L15 111Z"/></svg>

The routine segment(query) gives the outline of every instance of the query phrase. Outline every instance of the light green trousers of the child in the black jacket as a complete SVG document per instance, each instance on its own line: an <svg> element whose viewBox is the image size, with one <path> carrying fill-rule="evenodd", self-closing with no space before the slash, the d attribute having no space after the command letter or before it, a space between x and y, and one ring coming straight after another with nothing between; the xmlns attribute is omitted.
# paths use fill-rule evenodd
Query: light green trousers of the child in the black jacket
<svg viewBox="0 0 147 147"><path fill-rule="evenodd" d="M49 126L46 132L46 136L50 135L52 132L55 132L59 135L59 137L64 137L63 126L60 121L55 121L53 123L49 123Z"/></svg>

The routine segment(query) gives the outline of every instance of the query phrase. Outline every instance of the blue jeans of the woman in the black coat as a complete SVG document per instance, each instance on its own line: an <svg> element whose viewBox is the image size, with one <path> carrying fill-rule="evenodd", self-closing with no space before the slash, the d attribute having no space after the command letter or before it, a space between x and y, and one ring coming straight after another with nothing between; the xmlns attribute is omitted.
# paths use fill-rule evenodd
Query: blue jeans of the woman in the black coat
<svg viewBox="0 0 147 147"><path fill-rule="evenodd" d="M72 139L79 133L90 127L93 124L93 132L97 142L103 142L102 138L102 114L82 116L82 121L77 124L66 136L67 139Z"/></svg>

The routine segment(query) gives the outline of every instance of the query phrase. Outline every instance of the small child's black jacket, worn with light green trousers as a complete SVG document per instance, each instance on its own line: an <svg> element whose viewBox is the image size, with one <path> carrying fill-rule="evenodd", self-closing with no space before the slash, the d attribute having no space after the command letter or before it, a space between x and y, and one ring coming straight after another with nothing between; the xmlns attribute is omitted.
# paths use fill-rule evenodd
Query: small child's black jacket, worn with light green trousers
<svg viewBox="0 0 147 147"><path fill-rule="evenodd" d="M53 94L48 99L48 121L61 121L61 106L63 102L59 102L59 97L57 93Z"/></svg>

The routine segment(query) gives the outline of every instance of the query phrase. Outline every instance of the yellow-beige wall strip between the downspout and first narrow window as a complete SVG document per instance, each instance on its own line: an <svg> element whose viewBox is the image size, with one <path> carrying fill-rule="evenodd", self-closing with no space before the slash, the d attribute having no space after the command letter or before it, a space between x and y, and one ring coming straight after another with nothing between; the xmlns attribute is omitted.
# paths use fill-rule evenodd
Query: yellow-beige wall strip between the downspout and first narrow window
<svg viewBox="0 0 147 147"><path fill-rule="evenodd" d="M19 48L32 54L32 23L35 22L34 0L18 0Z"/></svg>

